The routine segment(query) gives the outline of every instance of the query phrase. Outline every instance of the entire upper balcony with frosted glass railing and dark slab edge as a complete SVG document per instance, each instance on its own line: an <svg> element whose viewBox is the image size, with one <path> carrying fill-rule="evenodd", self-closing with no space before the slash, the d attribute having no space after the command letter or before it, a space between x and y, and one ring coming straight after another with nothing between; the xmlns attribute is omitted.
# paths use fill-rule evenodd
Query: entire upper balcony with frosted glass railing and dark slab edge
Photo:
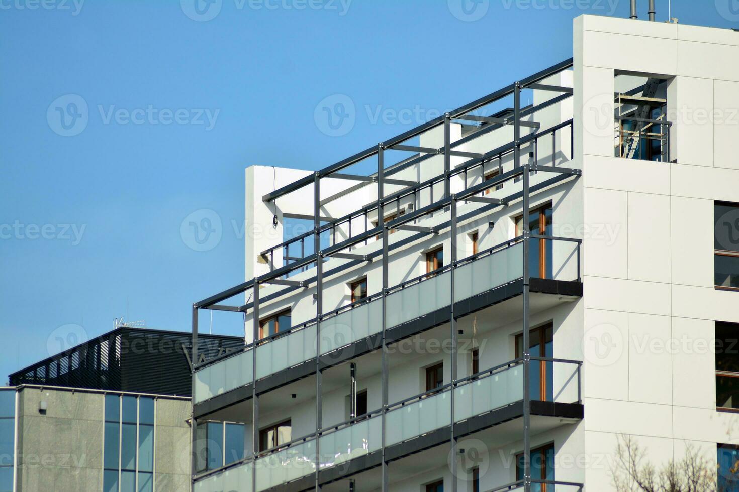
<svg viewBox="0 0 739 492"><path fill-rule="evenodd" d="M541 297L582 294L580 240L532 235L551 245L545 249L554 263L551 278L531 279L534 302ZM454 275L454 313L459 318L522 293L522 238L486 249L420 277L389 288L386 293L386 339L412 336L449 322ZM533 253L533 252L532 252ZM538 254L538 253L537 253ZM538 258L530 263L537 264ZM554 299L549 299L549 302ZM340 364L379 347L382 295L375 294L321 316L321 369ZM251 398L254 384L254 344L239 353L211 361L195 372L194 403L200 417L222 406ZM263 392L316 371L316 321L312 320L256 344L257 391ZM241 388L241 392L234 390ZM222 396L219 401L211 400ZM212 404L211 404L212 403Z"/></svg>

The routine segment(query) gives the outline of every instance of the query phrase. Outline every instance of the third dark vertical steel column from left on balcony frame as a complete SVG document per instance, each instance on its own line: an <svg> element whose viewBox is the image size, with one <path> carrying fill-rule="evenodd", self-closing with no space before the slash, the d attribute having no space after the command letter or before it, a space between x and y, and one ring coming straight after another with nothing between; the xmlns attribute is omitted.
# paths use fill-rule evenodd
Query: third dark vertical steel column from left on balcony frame
<svg viewBox="0 0 739 492"><path fill-rule="evenodd" d="M323 256L321 256L321 176L315 174L313 185L313 250L316 252L316 492L321 490L321 449L319 435L323 427L323 375L321 374L321 315L323 314ZM254 489L256 490L256 489Z"/></svg>

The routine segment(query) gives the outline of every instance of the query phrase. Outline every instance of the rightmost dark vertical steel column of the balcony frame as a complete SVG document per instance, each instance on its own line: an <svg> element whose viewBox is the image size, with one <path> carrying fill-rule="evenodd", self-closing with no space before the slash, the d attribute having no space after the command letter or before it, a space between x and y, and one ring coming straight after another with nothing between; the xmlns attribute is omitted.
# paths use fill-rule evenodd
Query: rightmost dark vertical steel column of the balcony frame
<svg viewBox="0 0 739 492"><path fill-rule="evenodd" d="M521 164L521 84L516 83L514 89L514 160L516 167L522 167L522 224L523 224L523 490L531 491L531 350L529 348L529 286L531 284L531 272L529 271L529 219L528 219L528 162Z"/></svg>

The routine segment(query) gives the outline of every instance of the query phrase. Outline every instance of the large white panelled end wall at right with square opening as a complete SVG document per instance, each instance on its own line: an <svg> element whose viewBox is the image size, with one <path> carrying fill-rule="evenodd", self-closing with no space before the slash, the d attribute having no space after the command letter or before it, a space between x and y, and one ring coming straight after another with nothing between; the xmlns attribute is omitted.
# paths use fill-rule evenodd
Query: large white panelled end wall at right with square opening
<svg viewBox="0 0 739 492"><path fill-rule="evenodd" d="M713 283L713 201L739 202L739 36L585 15L574 22L577 152L583 154L585 445L609 455L632 434L647 460L691 444L715 462L739 417L716 411L715 320L739 322ZM613 77L669 78L677 163L613 158ZM709 117L723 108L726 120ZM731 119L731 115L734 119ZM599 232L611 230L610 237ZM701 348L703 347L703 348ZM588 469L591 490L612 490Z"/></svg>

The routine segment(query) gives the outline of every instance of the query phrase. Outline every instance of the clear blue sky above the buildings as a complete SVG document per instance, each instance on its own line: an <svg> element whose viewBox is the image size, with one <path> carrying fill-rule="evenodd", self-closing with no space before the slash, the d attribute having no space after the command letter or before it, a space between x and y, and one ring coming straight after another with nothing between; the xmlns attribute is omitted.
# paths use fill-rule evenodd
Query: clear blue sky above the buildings
<svg viewBox="0 0 739 492"><path fill-rule="evenodd" d="M0 383L118 316L190 330L192 302L244 280L248 165L336 162L571 57L573 17L629 4L80 1L0 1ZM739 27L738 3L672 15ZM356 110L340 137L314 114L335 94ZM202 209L220 239L183 240L193 212L213 228Z"/></svg>

